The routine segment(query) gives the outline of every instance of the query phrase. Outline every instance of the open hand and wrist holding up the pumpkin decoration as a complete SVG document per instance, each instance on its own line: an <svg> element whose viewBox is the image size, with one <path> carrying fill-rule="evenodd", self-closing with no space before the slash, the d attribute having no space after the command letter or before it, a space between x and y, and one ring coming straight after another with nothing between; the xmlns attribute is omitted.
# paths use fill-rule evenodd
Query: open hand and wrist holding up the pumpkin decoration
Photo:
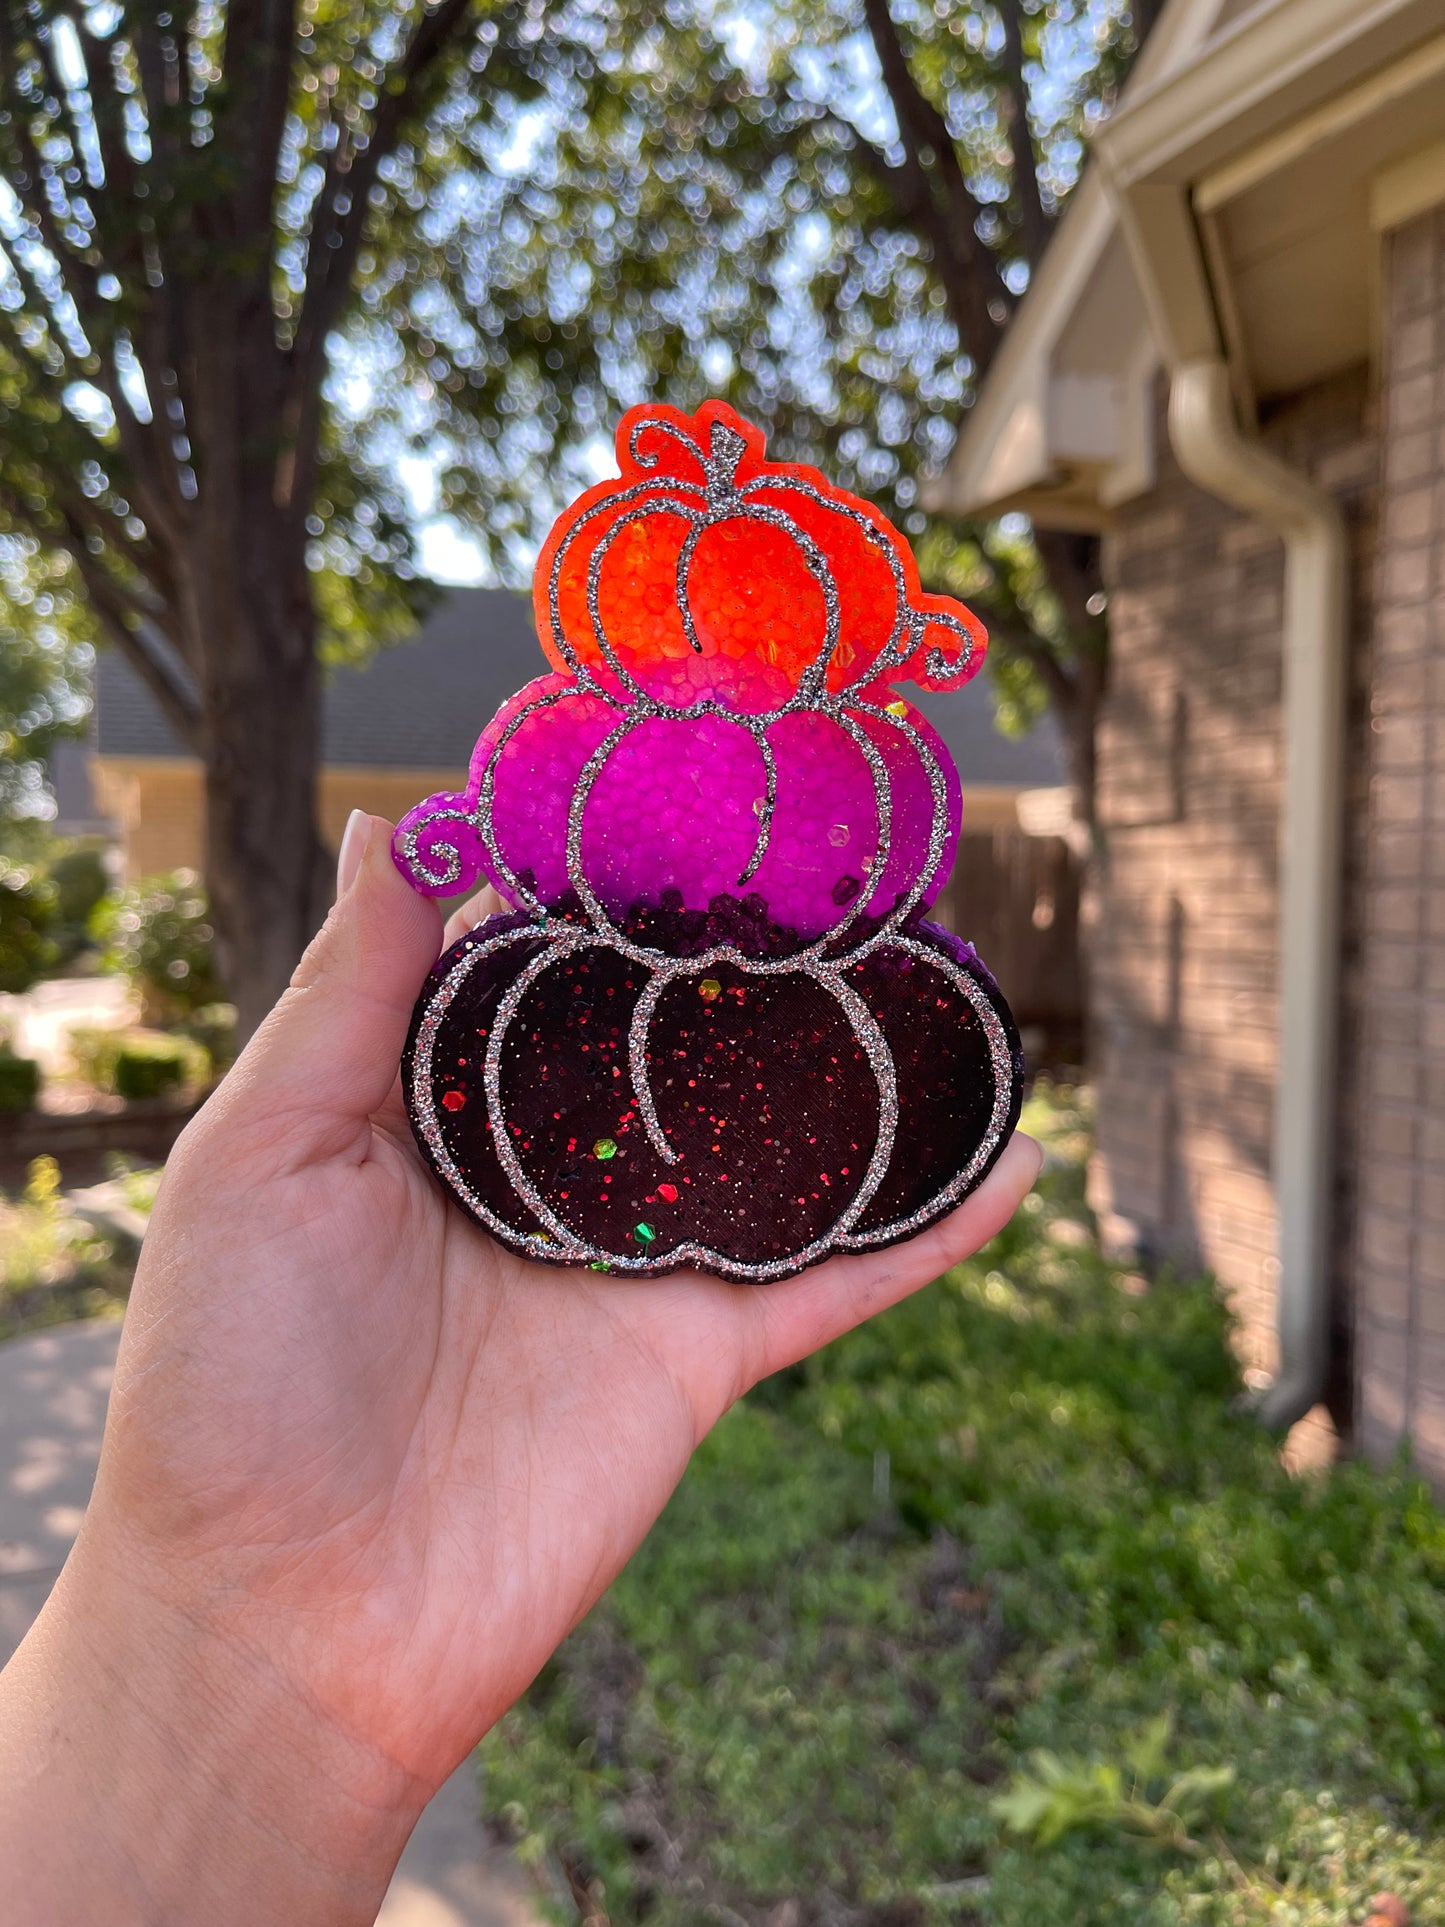
<svg viewBox="0 0 1445 1927"><path fill-rule="evenodd" d="M907 1245L765 1287L532 1266L407 1127L439 944L389 825L353 819L326 929L170 1160L94 1501L0 1678L12 1921L370 1921L709 1426L1037 1175L1015 1137Z"/></svg>

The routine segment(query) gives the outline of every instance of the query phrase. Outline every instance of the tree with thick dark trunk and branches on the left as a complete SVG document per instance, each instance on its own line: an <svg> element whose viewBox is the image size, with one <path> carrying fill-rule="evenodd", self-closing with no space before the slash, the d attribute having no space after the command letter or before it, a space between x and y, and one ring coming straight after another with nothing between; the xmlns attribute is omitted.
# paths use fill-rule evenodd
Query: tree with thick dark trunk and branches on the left
<svg viewBox="0 0 1445 1927"><path fill-rule="evenodd" d="M329 890L318 609L395 624L408 578L395 489L335 457L328 343L468 56L514 98L549 46L474 0L0 0L0 528L69 557L204 765L243 1025Z"/></svg>

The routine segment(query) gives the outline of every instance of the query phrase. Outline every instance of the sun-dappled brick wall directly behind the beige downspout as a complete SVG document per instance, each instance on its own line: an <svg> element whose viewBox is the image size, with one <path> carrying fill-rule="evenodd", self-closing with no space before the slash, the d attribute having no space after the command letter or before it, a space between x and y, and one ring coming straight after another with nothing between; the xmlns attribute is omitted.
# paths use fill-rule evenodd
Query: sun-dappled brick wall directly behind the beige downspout
<svg viewBox="0 0 1445 1927"><path fill-rule="evenodd" d="M1356 551L1347 752L1347 925L1356 931L1378 489L1364 370L1275 409L1262 432L1339 495ZM1106 551L1104 854L1087 935L1098 1087L1090 1195L1116 1243L1214 1270L1239 1316L1245 1364L1270 1372L1283 555L1258 522L1183 478L1162 426L1158 439L1156 488L1121 511ZM1358 964L1351 954L1345 975L1341 1056L1353 1093ZM1354 1102L1345 1102L1341 1253L1351 1241L1354 1116ZM1339 1293L1343 1303L1343 1280Z"/></svg>

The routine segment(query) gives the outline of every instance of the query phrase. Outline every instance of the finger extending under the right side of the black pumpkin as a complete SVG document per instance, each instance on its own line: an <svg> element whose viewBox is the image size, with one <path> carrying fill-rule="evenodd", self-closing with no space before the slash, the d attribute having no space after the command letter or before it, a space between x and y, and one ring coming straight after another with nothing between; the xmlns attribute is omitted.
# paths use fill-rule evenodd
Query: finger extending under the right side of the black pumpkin
<svg viewBox="0 0 1445 1927"><path fill-rule="evenodd" d="M1010 1222L1042 1162L1040 1145L1015 1131L979 1189L927 1231L888 1251L828 1258L798 1278L749 1293L742 1305L744 1316L755 1320L748 1384L796 1364L973 1256Z"/></svg>

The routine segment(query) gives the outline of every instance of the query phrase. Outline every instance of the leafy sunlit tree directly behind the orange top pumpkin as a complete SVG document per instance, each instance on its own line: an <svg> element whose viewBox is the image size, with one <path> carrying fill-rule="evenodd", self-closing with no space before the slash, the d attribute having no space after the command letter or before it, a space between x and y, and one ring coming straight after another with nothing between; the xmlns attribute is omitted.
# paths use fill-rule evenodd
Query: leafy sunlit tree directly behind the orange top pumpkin
<svg viewBox="0 0 1445 1927"><path fill-rule="evenodd" d="M547 96L511 181L449 202L416 160L428 266L364 281L353 353L434 358L410 436L449 453L443 505L503 572L555 513L568 443L647 393L722 393L775 453L879 499L925 576L981 607L1004 725L1054 707L1092 825L1098 541L927 515L919 486L1150 23L1123 0L815 0L746 21L674 0L607 42L605 92L580 71Z"/></svg>

